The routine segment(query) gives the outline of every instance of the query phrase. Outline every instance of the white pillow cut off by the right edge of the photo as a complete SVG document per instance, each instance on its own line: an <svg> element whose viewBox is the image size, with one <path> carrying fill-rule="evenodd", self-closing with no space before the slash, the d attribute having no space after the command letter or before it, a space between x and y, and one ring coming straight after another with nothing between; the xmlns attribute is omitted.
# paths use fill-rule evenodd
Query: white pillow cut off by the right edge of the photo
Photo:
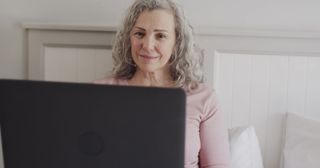
<svg viewBox="0 0 320 168"><path fill-rule="evenodd" d="M281 168L320 167L320 120L287 112Z"/></svg>

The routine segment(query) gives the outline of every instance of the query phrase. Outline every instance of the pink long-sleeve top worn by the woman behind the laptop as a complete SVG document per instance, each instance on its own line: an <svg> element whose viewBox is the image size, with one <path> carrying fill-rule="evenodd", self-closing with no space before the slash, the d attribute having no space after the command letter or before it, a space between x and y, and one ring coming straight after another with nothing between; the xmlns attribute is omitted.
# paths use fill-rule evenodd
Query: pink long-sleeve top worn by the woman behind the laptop
<svg viewBox="0 0 320 168"><path fill-rule="evenodd" d="M95 84L126 85L126 80L106 77ZM185 168L230 168L228 130L214 89L198 83L187 91Z"/></svg>

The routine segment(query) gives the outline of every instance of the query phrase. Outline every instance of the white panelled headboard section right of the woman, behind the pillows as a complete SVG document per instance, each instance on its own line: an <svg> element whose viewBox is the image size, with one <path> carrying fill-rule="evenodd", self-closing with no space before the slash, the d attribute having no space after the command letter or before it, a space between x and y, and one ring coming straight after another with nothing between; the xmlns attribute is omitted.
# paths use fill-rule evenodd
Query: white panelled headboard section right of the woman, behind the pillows
<svg viewBox="0 0 320 168"><path fill-rule="evenodd" d="M320 119L320 38L214 33L198 37L207 84L217 90L227 126L253 125L264 167L277 168L285 112Z"/></svg>

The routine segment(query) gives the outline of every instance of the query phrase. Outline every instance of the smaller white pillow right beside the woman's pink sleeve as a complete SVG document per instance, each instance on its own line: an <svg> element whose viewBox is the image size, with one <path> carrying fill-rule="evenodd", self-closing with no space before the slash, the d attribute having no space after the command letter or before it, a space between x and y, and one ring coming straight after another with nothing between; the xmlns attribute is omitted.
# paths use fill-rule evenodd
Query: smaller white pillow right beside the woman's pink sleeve
<svg viewBox="0 0 320 168"><path fill-rule="evenodd" d="M231 168L263 168L258 138L253 126L228 129Z"/></svg>

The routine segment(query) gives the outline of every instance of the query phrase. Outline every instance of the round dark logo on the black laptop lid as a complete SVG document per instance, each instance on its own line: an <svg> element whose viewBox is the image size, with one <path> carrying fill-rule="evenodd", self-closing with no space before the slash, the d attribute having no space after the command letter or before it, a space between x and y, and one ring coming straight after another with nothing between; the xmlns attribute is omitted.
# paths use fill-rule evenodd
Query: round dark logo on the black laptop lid
<svg viewBox="0 0 320 168"><path fill-rule="evenodd" d="M86 132L79 138L79 148L87 155L98 155L104 149L103 138L94 132Z"/></svg>

